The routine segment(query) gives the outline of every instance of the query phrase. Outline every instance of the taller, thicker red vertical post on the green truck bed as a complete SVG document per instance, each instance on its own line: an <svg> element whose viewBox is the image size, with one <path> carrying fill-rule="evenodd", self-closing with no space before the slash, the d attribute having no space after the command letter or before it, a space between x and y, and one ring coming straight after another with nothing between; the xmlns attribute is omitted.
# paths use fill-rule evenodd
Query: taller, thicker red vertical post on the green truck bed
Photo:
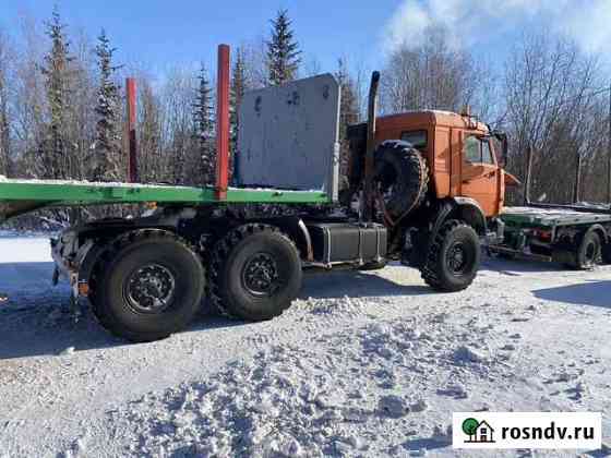
<svg viewBox="0 0 611 458"><path fill-rule="evenodd" d="M218 46L216 88L216 196L227 198L229 184L229 46Z"/></svg>

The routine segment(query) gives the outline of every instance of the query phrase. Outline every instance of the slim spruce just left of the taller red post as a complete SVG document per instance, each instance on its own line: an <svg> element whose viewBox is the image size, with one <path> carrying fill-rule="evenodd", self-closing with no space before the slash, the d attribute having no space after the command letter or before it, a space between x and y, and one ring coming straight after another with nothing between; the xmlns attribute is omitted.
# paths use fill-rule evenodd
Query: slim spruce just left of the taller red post
<svg viewBox="0 0 611 458"><path fill-rule="evenodd" d="M207 70L202 65L200 82L193 105L194 136L196 140L196 154L193 167L199 170L195 173L194 184L212 185L215 182L216 173L216 147L214 145L214 118L212 88L207 76Z"/></svg>

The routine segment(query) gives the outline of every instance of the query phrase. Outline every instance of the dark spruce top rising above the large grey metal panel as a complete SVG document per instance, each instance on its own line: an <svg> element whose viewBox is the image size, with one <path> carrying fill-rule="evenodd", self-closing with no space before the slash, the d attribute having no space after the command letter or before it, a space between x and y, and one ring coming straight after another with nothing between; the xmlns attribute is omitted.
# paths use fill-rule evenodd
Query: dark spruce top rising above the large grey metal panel
<svg viewBox="0 0 611 458"><path fill-rule="evenodd" d="M272 21L272 39L267 41L267 76L271 86L295 80L301 63L299 44L293 39L290 26L288 11L278 11Z"/></svg>

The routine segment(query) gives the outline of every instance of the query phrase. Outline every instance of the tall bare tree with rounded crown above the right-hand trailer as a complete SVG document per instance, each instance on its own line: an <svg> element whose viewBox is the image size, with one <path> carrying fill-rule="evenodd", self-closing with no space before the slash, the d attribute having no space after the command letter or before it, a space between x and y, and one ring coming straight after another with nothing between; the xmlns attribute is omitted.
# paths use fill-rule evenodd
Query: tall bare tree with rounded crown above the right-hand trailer
<svg viewBox="0 0 611 458"><path fill-rule="evenodd" d="M596 135L597 57L564 38L524 36L506 63L504 85L510 170L524 177L526 152L532 147L532 197L571 202L577 155L591 153L590 135Z"/></svg>

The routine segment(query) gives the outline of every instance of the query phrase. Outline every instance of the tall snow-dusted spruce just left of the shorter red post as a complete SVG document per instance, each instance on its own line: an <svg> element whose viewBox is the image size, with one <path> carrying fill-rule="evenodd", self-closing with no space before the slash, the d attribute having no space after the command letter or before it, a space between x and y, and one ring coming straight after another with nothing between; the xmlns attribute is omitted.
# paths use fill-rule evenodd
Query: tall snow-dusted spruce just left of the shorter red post
<svg viewBox="0 0 611 458"><path fill-rule="evenodd" d="M121 137L119 122L119 87L113 74L119 69L112 65L116 48L110 47L104 28L95 48L99 70L99 87L97 89L96 140L91 178L94 181L118 181L121 179Z"/></svg>

